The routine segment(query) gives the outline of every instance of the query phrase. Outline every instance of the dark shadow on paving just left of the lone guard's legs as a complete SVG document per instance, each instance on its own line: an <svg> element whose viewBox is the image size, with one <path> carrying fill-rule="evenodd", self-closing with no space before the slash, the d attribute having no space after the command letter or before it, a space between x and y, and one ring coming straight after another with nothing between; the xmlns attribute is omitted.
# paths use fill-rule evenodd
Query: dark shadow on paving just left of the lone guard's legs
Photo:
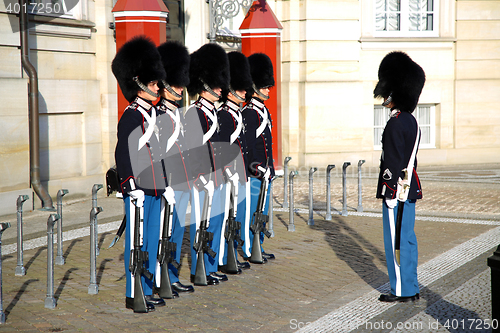
<svg viewBox="0 0 500 333"><path fill-rule="evenodd" d="M385 265L385 254L345 223L342 217L334 216L332 221L315 220L315 225L310 228L324 232L325 240L337 257L372 288L377 289L389 280L387 273L374 262L378 260Z"/></svg>

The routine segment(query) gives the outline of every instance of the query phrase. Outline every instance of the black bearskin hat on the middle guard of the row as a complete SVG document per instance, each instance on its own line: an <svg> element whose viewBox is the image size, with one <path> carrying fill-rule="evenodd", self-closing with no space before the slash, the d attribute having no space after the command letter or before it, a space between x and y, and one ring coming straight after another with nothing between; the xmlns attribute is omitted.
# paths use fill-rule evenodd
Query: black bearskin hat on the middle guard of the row
<svg viewBox="0 0 500 333"><path fill-rule="evenodd" d="M187 89L191 96L210 88L228 89L229 61L224 49L214 43L205 44L191 54L189 65L189 85Z"/></svg>

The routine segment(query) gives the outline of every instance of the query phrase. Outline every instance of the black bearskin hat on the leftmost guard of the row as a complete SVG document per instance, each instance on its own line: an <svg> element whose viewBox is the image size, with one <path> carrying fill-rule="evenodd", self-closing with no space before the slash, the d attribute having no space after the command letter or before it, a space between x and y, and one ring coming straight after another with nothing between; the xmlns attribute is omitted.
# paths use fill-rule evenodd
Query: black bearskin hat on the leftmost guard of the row
<svg viewBox="0 0 500 333"><path fill-rule="evenodd" d="M123 44L111 63L118 85L127 101L132 102L141 90L134 81L138 77L144 85L151 81L165 79L156 45L146 36L137 36Z"/></svg>

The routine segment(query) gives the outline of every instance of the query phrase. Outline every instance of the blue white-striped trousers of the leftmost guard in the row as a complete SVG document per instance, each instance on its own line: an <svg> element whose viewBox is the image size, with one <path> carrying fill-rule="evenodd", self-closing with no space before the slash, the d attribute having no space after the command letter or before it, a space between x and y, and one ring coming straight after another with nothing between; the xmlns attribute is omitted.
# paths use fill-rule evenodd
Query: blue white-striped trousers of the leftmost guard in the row
<svg viewBox="0 0 500 333"><path fill-rule="evenodd" d="M127 216L127 224L125 229L125 276L126 276L126 292L127 297L134 297L134 277L129 270L130 250L134 248L134 221L135 221L135 206L130 203L130 197L125 195L125 214ZM151 274L155 274L156 257L158 254L158 239L160 237L160 212L161 212L161 196L149 196L144 198L144 215L143 215L143 243L142 250L147 251L149 260L146 262L146 268ZM144 295L153 294L153 281L141 276L142 288Z"/></svg>

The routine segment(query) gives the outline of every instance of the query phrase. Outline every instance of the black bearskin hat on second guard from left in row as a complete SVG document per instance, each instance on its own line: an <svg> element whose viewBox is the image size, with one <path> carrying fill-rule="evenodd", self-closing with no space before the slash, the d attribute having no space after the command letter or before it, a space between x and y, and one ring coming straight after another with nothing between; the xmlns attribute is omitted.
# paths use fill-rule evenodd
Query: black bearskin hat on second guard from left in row
<svg viewBox="0 0 500 333"><path fill-rule="evenodd" d="M166 82L174 87L189 84L189 52L184 45L168 41L158 46L161 62L167 72Z"/></svg>

